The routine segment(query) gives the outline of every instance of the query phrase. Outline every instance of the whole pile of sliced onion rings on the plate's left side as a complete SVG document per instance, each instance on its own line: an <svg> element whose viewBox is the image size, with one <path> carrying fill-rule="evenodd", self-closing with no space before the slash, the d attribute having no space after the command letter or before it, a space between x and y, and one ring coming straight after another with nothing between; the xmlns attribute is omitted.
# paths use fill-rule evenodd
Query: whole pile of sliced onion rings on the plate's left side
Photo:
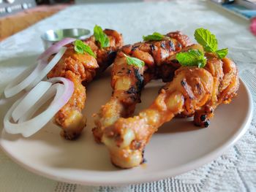
<svg viewBox="0 0 256 192"><path fill-rule="evenodd" d="M56 112L67 104L74 91L72 81L64 77L41 80L56 66L66 52L67 47L63 46L74 41L75 39L67 38L49 47L39 55L36 65L30 66L4 88L6 98L26 91L26 94L12 104L4 116L4 128L8 133L29 137L45 126ZM48 62L48 58L53 54L56 55ZM33 117L34 113L53 96L54 99L48 108Z"/></svg>

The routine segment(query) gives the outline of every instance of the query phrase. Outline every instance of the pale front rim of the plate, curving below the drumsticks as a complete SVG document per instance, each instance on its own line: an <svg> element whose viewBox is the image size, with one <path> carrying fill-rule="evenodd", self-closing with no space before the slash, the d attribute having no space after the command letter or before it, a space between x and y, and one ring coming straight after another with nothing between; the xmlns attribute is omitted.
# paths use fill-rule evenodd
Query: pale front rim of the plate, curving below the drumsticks
<svg viewBox="0 0 256 192"><path fill-rule="evenodd" d="M174 177L176 175L189 172L193 169L197 169L198 167L213 161L215 158L218 158L220 155L225 153L227 149L232 147L238 141L238 139L241 139L241 137L246 133L252 121L253 100L252 100L252 93L249 91L249 88L244 82L244 80L242 80L241 77L239 77L239 81L244 86L246 90L246 94L249 98L249 109L247 110L246 119L241 124L241 128L239 128L238 131L236 131L236 133L233 134L233 137L229 137L229 139L223 142L222 145L215 148L210 153L207 153L206 155L203 155L202 157L197 158L194 161L189 162L188 164L181 164L180 166L177 166L175 169L166 169L165 171L154 172L154 174L147 174L146 177L140 177L140 179L138 179L137 177L131 177L131 179L124 181L120 179L108 180L108 178L106 178L105 181L99 181L99 180L95 181L95 180L72 180L72 179L67 179L66 177L57 177L53 174L48 174L47 172L39 171L34 167L29 166L28 164L25 164L22 161L19 161L18 159L16 159L2 145L3 139L1 138L1 135L0 135L0 149L3 150L4 153L12 161L14 161L19 166L22 166L24 169L28 170L29 172L32 172L42 177L47 177L49 179L56 180L59 182L67 182L67 183L74 183L74 184L80 184L80 185L94 185L94 186L99 186L99 185L121 186L121 185L132 185L132 184L139 184L139 183L148 183L148 182L153 182L157 180L162 180L167 177ZM3 131L4 131L4 128L2 129L1 134Z"/></svg>

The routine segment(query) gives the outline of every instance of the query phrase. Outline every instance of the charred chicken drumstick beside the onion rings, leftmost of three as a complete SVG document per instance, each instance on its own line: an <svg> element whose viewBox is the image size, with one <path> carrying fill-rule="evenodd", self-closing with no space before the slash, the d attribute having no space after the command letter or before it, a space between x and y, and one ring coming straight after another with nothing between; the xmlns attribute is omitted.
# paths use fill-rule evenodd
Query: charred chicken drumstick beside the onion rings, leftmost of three
<svg viewBox="0 0 256 192"><path fill-rule="evenodd" d="M97 74L104 72L116 57L116 52L123 45L121 34L105 29L104 33L110 40L110 46L101 48L94 36L84 40L96 58L88 53L76 53L74 45L67 45L61 60L48 73L48 78L66 77L74 83L74 93L68 103L55 115L55 123L62 128L61 135L66 139L77 138L86 126L86 118L82 110L86 101L86 82L90 82Z"/></svg>

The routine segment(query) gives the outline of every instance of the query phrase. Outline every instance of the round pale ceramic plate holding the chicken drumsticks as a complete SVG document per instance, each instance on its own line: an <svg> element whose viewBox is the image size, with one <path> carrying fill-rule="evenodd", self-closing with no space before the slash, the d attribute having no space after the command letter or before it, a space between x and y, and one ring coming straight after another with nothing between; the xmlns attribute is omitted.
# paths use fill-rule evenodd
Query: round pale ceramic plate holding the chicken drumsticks
<svg viewBox="0 0 256 192"><path fill-rule="evenodd" d="M7 72L3 73L6 76L16 68L18 71L15 64L10 69L6 67ZM146 86L137 112L153 101L162 85L155 81ZM85 110L88 126L80 139L61 138L60 129L50 122L29 138L2 131L1 148L29 171L54 180L82 185L143 183L187 172L217 158L245 133L252 118L252 99L241 81L238 97L231 104L217 108L208 128L193 126L191 118L165 123L146 147L146 164L134 169L118 169L110 163L106 147L97 145L91 134L94 127L91 115L108 101L111 91L108 73L89 85ZM0 100L1 120L14 100Z"/></svg>

